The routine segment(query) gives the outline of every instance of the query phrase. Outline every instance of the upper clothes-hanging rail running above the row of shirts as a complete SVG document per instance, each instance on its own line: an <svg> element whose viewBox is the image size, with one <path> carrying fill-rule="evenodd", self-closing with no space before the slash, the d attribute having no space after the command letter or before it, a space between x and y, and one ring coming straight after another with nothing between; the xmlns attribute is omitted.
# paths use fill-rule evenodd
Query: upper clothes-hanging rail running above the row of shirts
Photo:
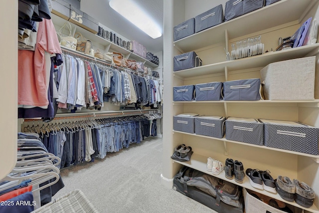
<svg viewBox="0 0 319 213"><path fill-rule="evenodd" d="M61 46L61 49L62 49L62 52L64 54L68 54L68 55L71 55L71 56L76 56L76 57L79 57L81 59L89 60L89 61L94 62L94 63L101 63L103 65L106 65L106 66L109 66L111 68L115 68L117 70L121 70L121 71L130 73L130 74L136 74L136 75L139 75L139 76L142 76L142 77L146 77L146 78L149 78L149 79L152 79L152 80L160 81L159 78L156 78L154 76L147 75L147 74L144 74L144 73L141 73L139 71L136 71L136 70L133 70L133 69L129 69L129 68L126 68L126 67L120 67L120 66L112 65L111 63L108 63L106 60L102 60L102 59L93 57L91 55L83 54L81 52L78 52L78 51L73 50L73 49L66 48L64 46ZM111 61L109 61L109 62L111 62Z"/></svg>

